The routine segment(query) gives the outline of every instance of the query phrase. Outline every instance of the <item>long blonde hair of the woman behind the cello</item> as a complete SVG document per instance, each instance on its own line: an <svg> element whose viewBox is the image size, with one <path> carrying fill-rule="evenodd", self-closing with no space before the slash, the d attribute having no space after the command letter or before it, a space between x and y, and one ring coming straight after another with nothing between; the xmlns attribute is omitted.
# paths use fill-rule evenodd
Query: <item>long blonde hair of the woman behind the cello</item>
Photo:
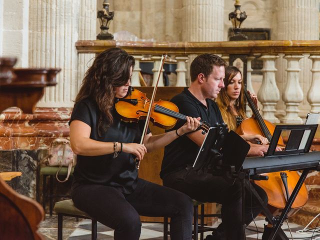
<svg viewBox="0 0 320 240"><path fill-rule="evenodd" d="M233 77L240 72L240 70L235 67L235 66L227 66L225 68L225 76L224 76L224 87L221 88L220 93L218 94L217 98L215 99L223 121L228 125L228 128L230 130L235 131L237 125L236 125L236 118L235 115L232 114L229 103L230 103L230 97L226 94L226 87L230 83L230 81L233 79ZM241 79L242 79L242 74L240 72ZM240 90L240 95L239 97L235 100L235 109L238 112L239 116L242 117L242 119L245 119L247 116L245 114L245 104L244 104L244 99L243 99L243 80L241 83L241 90Z"/></svg>

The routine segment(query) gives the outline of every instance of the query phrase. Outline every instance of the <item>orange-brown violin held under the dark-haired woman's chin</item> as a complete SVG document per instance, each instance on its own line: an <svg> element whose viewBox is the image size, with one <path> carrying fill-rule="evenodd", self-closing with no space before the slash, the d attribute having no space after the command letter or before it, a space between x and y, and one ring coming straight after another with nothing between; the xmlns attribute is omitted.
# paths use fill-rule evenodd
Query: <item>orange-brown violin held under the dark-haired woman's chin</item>
<svg viewBox="0 0 320 240"><path fill-rule="evenodd" d="M137 122L146 119L150 100L146 94L130 86L127 96L120 98L115 103L115 110L121 116L121 120L127 122ZM186 116L179 113L178 107L170 101L154 101L151 107L150 120L154 125L164 129L172 128L177 120L186 120ZM200 121L202 134L208 131L209 125Z"/></svg>

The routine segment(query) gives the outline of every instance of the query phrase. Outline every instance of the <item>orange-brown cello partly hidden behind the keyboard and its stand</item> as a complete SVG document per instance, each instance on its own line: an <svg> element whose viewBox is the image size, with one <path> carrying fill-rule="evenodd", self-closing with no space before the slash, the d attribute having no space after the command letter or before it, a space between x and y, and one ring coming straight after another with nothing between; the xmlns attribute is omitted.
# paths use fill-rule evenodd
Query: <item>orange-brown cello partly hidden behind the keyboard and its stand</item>
<svg viewBox="0 0 320 240"><path fill-rule="evenodd" d="M236 133L238 134L260 134L265 136L270 142L275 126L262 119L258 109L256 109L251 97L245 88L243 88L244 95L248 101L248 104L254 114L253 117L244 119L241 124L237 127ZM283 147L283 140L280 137L278 146ZM268 207L273 215L279 215L281 209L285 207L286 201L289 195L294 189L296 182L300 175L297 171L281 171L281 172L270 172L263 173L261 175L268 176L268 180L255 180L254 183L262 187L268 196ZM286 178L286 180L285 180ZM287 184L285 184L287 182ZM287 186L286 186L287 185ZM300 191L298 192L291 210L287 216L290 217L296 213L308 200L308 192L305 184L303 183Z"/></svg>

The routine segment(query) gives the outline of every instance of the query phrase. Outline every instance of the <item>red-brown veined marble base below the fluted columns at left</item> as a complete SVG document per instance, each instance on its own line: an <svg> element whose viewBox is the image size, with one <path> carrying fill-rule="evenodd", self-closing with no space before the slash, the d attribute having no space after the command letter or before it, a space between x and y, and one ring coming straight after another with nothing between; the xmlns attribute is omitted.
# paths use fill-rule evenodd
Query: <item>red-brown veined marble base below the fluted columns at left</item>
<svg viewBox="0 0 320 240"><path fill-rule="evenodd" d="M8 108L0 114L0 150L38 149L56 137L68 137L72 108L37 108L25 114Z"/></svg>

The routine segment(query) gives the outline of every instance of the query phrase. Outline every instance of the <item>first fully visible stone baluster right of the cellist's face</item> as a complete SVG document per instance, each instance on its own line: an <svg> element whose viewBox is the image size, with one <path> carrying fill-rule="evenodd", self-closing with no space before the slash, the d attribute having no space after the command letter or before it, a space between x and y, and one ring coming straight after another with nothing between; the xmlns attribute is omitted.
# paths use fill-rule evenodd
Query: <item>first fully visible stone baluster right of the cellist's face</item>
<svg viewBox="0 0 320 240"><path fill-rule="evenodd" d="M275 84L275 59L277 55L262 55L260 59L263 61L262 83L258 90L258 100L261 102L262 117L274 123L278 123L279 119L274 115L275 105L280 99L279 90Z"/></svg>

